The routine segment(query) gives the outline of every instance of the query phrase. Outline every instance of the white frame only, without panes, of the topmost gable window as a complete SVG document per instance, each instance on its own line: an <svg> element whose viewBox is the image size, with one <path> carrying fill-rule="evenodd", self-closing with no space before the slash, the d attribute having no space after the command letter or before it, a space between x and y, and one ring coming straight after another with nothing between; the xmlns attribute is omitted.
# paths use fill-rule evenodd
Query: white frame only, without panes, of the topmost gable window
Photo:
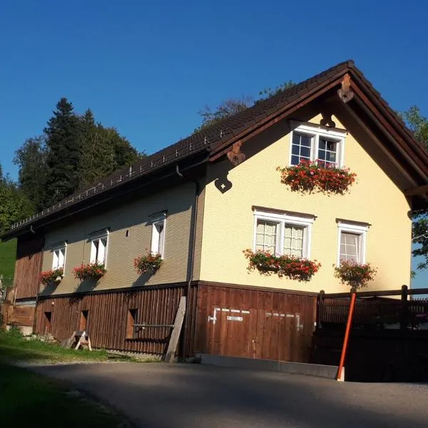
<svg viewBox="0 0 428 428"><path fill-rule="evenodd" d="M336 166L342 168L345 165L345 137L347 132L340 131L337 129L326 129L321 126L317 126L315 123L313 125L307 125L305 123L299 122L290 122L291 131L290 131L290 148L288 153L288 165L291 164L292 156L292 138L294 133L302 134L311 138L310 143L310 161L315 162L318 156L318 148L320 146L320 137L327 138L329 141L335 141L338 143L337 148L337 162Z"/></svg>

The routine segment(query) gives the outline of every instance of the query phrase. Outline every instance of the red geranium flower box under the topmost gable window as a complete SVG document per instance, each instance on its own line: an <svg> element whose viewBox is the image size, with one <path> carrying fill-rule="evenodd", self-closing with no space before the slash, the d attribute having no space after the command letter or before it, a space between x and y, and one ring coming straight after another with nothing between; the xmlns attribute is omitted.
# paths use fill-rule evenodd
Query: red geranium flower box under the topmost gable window
<svg viewBox="0 0 428 428"><path fill-rule="evenodd" d="M290 186L293 192L317 192L326 194L346 193L357 175L347 168L337 168L322 161L301 161L287 168L277 167L281 183Z"/></svg>

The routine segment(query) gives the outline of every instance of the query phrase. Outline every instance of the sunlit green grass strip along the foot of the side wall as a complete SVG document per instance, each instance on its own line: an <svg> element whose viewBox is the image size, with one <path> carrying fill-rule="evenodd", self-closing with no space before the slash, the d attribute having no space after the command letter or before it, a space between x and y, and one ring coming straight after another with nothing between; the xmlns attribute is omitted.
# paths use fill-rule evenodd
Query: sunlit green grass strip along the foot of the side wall
<svg viewBox="0 0 428 428"><path fill-rule="evenodd" d="M137 361L133 357L112 355L104 350L75 351L39 340L25 340L16 330L0 332L0 359L26 362Z"/></svg>

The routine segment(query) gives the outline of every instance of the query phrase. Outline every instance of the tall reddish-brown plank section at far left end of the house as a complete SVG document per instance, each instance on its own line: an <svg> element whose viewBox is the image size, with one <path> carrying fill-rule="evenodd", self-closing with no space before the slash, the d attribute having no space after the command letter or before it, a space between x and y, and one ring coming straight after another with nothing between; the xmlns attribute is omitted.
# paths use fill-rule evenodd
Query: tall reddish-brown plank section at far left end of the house
<svg viewBox="0 0 428 428"><path fill-rule="evenodd" d="M43 262L42 238L18 238L14 285L16 299L36 297Z"/></svg>

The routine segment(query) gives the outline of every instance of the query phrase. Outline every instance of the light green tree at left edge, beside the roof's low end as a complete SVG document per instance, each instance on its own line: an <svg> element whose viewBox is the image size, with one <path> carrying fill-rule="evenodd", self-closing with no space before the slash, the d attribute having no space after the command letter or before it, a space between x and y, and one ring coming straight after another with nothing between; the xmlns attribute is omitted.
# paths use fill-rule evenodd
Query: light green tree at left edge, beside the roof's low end
<svg viewBox="0 0 428 428"><path fill-rule="evenodd" d="M3 176L0 166L0 235L9 230L18 220L29 217L34 207L24 193L6 175Z"/></svg>

